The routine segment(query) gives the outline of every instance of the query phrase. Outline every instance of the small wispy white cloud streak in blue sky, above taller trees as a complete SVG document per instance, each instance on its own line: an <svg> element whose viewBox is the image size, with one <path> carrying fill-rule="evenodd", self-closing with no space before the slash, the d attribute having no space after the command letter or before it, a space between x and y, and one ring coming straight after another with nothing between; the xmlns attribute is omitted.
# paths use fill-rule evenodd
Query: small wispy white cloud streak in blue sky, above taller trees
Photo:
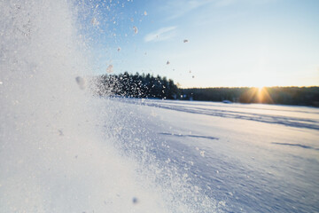
<svg viewBox="0 0 319 213"><path fill-rule="evenodd" d="M144 37L144 41L148 43L148 42L160 42L160 41L168 40L176 36L175 29L176 29L175 26L167 27L167 28L159 28L158 30L146 35Z"/></svg>

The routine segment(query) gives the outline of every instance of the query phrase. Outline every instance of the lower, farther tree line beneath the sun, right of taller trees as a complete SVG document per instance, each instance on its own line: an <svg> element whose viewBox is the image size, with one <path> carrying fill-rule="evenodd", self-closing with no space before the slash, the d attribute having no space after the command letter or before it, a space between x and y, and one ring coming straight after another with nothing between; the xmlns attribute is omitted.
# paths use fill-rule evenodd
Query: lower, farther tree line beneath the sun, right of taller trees
<svg viewBox="0 0 319 213"><path fill-rule="evenodd" d="M319 87L192 88L182 94L193 100L319 106Z"/></svg>

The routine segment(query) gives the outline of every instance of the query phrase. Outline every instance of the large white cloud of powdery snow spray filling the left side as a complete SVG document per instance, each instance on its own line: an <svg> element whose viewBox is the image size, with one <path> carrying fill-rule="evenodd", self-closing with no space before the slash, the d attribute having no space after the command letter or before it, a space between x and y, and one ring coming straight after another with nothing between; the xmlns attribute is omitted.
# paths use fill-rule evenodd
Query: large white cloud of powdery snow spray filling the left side
<svg viewBox="0 0 319 213"><path fill-rule="evenodd" d="M84 90L91 8L76 5L0 2L0 212L214 211L143 130L119 141L125 108Z"/></svg>

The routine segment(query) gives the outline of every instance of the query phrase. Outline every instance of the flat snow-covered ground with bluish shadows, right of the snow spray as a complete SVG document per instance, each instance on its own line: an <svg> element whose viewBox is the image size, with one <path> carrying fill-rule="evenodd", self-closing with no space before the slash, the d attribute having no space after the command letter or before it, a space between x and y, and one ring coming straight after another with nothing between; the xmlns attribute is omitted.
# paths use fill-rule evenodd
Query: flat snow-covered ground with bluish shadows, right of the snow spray
<svg viewBox="0 0 319 213"><path fill-rule="evenodd" d="M318 108L102 101L115 146L164 188L178 177L198 209L208 199L217 212L319 211Z"/></svg>

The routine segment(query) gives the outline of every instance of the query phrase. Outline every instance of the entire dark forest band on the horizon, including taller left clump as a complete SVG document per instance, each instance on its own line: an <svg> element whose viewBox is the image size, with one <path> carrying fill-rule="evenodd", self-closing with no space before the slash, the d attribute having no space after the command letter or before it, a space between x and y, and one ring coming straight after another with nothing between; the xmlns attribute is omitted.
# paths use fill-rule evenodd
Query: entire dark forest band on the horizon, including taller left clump
<svg viewBox="0 0 319 213"><path fill-rule="evenodd" d="M191 88L180 89L172 79L150 74L100 75L96 77L99 96L146 99L184 99L319 106L319 87Z"/></svg>

